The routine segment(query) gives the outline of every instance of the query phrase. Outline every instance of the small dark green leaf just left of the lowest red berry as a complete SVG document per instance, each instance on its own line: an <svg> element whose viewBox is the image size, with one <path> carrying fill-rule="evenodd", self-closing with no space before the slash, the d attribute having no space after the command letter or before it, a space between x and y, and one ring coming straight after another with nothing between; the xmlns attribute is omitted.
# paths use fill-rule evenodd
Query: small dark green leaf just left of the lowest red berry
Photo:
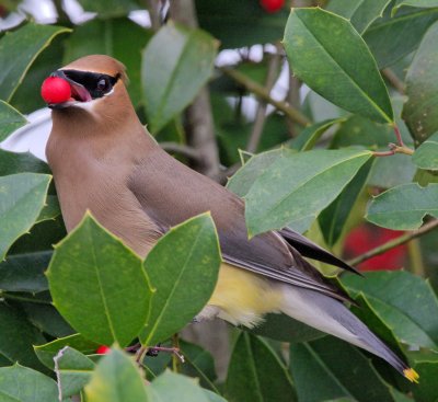
<svg viewBox="0 0 438 402"><path fill-rule="evenodd" d="M55 368L54 357L66 346L82 352L85 355L91 355L95 353L100 345L85 340L81 334L73 334L44 345L34 346L34 349L41 363L53 370Z"/></svg>

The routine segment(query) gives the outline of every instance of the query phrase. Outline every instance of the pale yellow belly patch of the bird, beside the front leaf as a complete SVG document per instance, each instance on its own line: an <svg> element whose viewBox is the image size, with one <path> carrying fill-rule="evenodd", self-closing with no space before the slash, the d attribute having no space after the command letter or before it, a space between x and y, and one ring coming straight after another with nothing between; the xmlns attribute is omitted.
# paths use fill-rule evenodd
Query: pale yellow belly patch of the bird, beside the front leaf
<svg viewBox="0 0 438 402"><path fill-rule="evenodd" d="M216 289L208 302L219 317L234 325L254 326L268 312L278 312L281 294L269 279L222 263Z"/></svg>

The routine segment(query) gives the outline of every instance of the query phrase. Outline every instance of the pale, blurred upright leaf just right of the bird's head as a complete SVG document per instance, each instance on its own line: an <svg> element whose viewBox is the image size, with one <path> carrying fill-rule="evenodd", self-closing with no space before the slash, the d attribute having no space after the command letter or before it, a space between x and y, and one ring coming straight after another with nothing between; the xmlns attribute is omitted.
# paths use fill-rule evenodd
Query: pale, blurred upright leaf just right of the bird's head
<svg viewBox="0 0 438 402"><path fill-rule="evenodd" d="M142 54L142 91L152 133L184 110L212 73L218 44L200 30L168 23Z"/></svg>

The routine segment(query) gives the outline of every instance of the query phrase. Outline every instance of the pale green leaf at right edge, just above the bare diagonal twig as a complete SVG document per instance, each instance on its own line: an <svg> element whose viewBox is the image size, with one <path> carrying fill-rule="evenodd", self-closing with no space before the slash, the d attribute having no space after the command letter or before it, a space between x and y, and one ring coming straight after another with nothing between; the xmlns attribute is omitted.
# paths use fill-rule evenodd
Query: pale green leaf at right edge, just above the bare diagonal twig
<svg viewBox="0 0 438 402"><path fill-rule="evenodd" d="M372 199L366 218L383 228L414 230L426 215L438 218L438 184L407 183L387 189Z"/></svg>

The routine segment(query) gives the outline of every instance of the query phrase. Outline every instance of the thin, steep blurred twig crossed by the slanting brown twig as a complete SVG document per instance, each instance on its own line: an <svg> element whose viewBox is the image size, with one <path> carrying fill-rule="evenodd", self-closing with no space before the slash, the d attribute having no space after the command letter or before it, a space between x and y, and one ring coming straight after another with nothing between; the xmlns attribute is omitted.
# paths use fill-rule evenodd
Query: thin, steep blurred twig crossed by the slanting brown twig
<svg viewBox="0 0 438 402"><path fill-rule="evenodd" d="M267 74L265 81L265 90L267 92L270 92L270 90L274 87L275 79L277 78L279 62L281 60L279 46L280 45L276 46L276 53L270 56L270 60L267 67ZM251 131L250 139L246 145L246 150L249 152L255 152L257 150L258 142L262 138L263 127L265 126L266 122L266 108L267 108L266 102L260 100L257 112L255 114L253 129Z"/></svg>

